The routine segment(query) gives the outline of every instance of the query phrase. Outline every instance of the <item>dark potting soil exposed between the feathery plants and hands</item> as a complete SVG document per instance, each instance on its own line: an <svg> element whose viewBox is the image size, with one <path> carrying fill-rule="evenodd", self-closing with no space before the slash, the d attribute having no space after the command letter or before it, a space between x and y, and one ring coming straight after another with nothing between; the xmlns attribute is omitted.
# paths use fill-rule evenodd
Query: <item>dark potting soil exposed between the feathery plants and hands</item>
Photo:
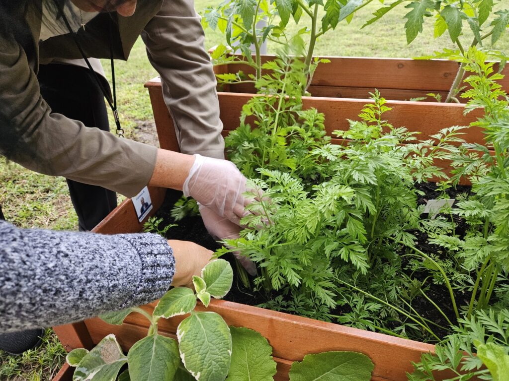
<svg viewBox="0 0 509 381"><path fill-rule="evenodd" d="M437 191L437 186L435 183L422 183L416 184L417 189L421 190L425 195L418 197L418 204L426 204L428 200L436 199L441 196L441 193ZM450 188L446 190L449 198L456 199L459 194L465 194L470 192L469 186L459 185L456 188ZM163 226L168 224L178 224L177 227L173 227L168 230L166 233L167 239L181 239L186 241L192 241L197 244L200 244L210 250L217 250L221 247L208 233L203 225L203 221L200 216L190 216L185 217L180 221L175 221L171 216L171 210L175 202L182 196L182 192L177 192L175 190L168 190L166 193L165 200L156 212L155 216L157 218L163 218ZM461 218L457 218L456 220L457 228L456 233L462 236L465 233L467 228L466 224ZM434 253L436 255L441 254L441 249L438 246L429 244L427 241L426 234L421 232L412 232L417 237L416 248L426 253ZM234 283L232 290L228 293L228 295L224 298L225 300L247 304L247 305L259 305L261 303L265 303L268 300L271 300L275 296L278 295L277 292L273 292L271 295L266 295L261 292L253 292L250 289L246 289L240 279L238 278L236 271L236 264L233 255L228 254L222 256L221 258L227 260L232 265L234 269ZM419 280L423 280L427 274L419 274L413 273L413 276ZM253 278L250 277L251 284ZM429 284L430 282L427 282ZM440 308L444 311L444 313L448 316L451 322L455 322L455 313L454 309L451 305L450 298L447 292L447 289L440 284L431 284L429 290L427 291L427 295L435 302ZM465 305L468 303L467 295L461 295L458 292L455 294L456 301L458 306ZM421 316L425 317L425 319L429 319L436 324L448 327L447 321L444 317L437 311L437 309L424 297L416 297L413 301L413 307L418 310ZM334 311L331 311L332 314L341 315L342 313L350 312L351 309L349 306L338 307ZM394 327L395 328L395 327ZM439 334L439 336L445 336L448 332L445 330L435 329L434 331Z"/></svg>

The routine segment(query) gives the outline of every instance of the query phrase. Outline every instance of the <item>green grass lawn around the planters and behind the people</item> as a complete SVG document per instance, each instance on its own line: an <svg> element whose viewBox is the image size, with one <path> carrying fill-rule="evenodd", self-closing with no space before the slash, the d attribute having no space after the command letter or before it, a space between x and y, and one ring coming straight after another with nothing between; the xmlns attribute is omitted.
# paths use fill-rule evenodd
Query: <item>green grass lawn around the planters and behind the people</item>
<svg viewBox="0 0 509 381"><path fill-rule="evenodd" d="M195 2L198 11L216 3L218 2L211 0ZM325 34L317 43L316 54L416 57L431 54L443 47L452 47L448 36L436 40L433 38L432 20L428 20L423 33L411 45L407 45L403 15L408 10L402 7L388 13L378 23L360 29L377 7L380 7L380 3L373 2L356 14L350 24L342 22L335 30ZM299 25L289 28L290 31L295 31L304 25L303 18ZM208 29L206 37L207 49L224 43L218 31ZM471 39L469 36L465 37L467 40ZM497 47L508 52L509 35L505 35L497 43ZM268 50L269 53L273 53L275 46L269 44ZM103 65L109 75L109 62L105 61ZM157 75L148 62L141 40L135 44L129 62L116 62L115 69L123 127L127 137L138 139L136 127L153 119L148 92L143 85L145 81ZM6 218L17 226L56 230L77 229L77 218L63 178L35 174L0 158L0 184L0 205ZM55 369L61 366L63 353L63 348L49 331L45 336L45 344L38 351L16 358L0 351L0 380L49 380L55 374Z"/></svg>

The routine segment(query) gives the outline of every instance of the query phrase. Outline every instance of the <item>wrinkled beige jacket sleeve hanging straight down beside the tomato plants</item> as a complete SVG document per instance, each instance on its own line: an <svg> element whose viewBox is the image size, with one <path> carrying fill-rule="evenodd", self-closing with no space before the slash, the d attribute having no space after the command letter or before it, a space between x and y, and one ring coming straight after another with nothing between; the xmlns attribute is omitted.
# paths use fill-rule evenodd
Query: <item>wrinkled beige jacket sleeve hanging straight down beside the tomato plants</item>
<svg viewBox="0 0 509 381"><path fill-rule="evenodd" d="M181 151L224 158L216 79L194 2L165 0L142 38L161 76Z"/></svg>

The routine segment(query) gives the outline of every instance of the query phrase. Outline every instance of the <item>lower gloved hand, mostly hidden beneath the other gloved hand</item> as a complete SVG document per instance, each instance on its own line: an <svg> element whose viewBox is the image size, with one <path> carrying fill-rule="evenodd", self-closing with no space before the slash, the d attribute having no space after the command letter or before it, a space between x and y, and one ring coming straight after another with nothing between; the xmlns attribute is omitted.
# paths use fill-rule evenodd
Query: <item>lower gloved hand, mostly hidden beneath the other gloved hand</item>
<svg viewBox="0 0 509 381"><path fill-rule="evenodd" d="M234 224L226 217L221 217L214 213L213 210L200 204L200 214L202 215L203 223L207 231L214 239L235 239L239 238L240 226ZM246 271L254 276L256 275L256 266L247 257L234 252L233 255L238 259L240 264Z"/></svg>

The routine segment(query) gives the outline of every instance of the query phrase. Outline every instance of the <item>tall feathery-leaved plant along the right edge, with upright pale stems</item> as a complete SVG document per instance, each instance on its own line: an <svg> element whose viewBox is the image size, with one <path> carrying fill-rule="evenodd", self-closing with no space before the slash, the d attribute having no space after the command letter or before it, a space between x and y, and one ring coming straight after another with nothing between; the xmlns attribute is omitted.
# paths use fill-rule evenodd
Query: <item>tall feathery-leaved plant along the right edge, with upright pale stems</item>
<svg viewBox="0 0 509 381"><path fill-rule="evenodd" d="M498 280L506 276L509 268L509 188L506 167L509 165L507 126L509 102L506 93L496 80L503 76L494 71L494 62L486 62L487 54L470 49L464 63L471 72L466 82L472 88L463 95L470 98L466 111L483 109L484 116L471 123L485 131L486 145L463 143L451 155L454 168L444 186L457 184L462 177L472 183L472 195L460 199L450 216L458 216L468 226L464 235L455 232L455 224L441 229L426 229L433 243L449 253L455 261L448 278L457 283L457 289L470 293L465 307L468 318L474 310L489 307L497 290ZM490 153L490 149L494 153ZM434 268L430 269L432 272ZM459 317L459 313L457 312Z"/></svg>

